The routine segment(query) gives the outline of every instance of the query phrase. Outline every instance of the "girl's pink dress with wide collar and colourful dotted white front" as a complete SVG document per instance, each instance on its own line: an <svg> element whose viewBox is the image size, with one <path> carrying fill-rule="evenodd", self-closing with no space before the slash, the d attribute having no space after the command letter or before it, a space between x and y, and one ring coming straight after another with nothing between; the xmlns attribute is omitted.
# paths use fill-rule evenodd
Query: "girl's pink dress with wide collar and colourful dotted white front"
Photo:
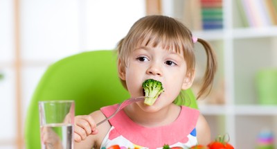
<svg viewBox="0 0 277 149"><path fill-rule="evenodd" d="M114 113L118 105L102 107L100 110L105 116ZM157 128L145 128L134 123L121 110L112 119L109 119L111 129L100 146L101 149L119 145L125 148L163 148L165 144L172 147L189 148L197 144L195 125L199 116L197 109L181 106L181 112L173 123Z"/></svg>

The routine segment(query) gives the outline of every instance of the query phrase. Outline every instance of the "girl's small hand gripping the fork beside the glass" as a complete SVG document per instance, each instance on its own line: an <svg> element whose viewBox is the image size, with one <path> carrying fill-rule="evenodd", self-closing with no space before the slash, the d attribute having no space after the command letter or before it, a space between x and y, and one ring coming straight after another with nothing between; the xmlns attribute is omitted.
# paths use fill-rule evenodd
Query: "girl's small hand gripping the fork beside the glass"
<svg viewBox="0 0 277 149"><path fill-rule="evenodd" d="M91 115L75 116L74 141L80 142L91 134L97 134L96 123Z"/></svg>

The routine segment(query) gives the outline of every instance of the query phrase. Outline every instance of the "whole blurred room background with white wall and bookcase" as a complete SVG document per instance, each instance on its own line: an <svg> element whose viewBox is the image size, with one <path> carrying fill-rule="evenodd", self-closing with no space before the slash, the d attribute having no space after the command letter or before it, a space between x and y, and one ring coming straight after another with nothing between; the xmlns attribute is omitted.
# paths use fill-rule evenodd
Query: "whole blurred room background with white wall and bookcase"
<svg viewBox="0 0 277 149"><path fill-rule="evenodd" d="M28 104L49 64L114 49L152 14L179 19L217 53L213 90L199 99L213 137L228 133L235 148L255 148L259 134L277 133L276 0L0 0L0 148L25 148ZM206 56L195 49L196 92Z"/></svg>

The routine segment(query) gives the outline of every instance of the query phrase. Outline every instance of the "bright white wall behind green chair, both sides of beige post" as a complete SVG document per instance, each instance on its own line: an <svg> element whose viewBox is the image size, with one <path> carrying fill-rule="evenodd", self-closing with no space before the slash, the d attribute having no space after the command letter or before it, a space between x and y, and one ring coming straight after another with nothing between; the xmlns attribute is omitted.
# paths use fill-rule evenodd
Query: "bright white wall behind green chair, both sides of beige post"
<svg viewBox="0 0 277 149"><path fill-rule="evenodd" d="M16 148L13 5L0 1L0 73L5 75L0 80L0 117L6 121L0 123L0 148ZM114 49L144 15L144 0L21 0L22 116L48 64L82 51Z"/></svg>

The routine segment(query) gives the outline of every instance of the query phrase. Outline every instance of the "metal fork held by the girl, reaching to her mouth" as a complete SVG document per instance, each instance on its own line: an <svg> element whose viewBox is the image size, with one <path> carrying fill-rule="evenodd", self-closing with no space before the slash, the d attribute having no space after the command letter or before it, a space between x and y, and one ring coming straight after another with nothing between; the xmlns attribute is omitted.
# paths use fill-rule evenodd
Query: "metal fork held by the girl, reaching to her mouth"
<svg viewBox="0 0 277 149"><path fill-rule="evenodd" d="M105 121L108 121L108 120L111 119L112 117L114 117L121 109L123 109L123 108L126 107L127 105L129 105L129 104L131 104L131 103L136 103L136 102L138 102L138 101L142 101L142 100L144 100L144 98L145 98L145 96L140 96L140 97L134 97L134 98L129 98L129 99L127 99L127 100L124 100L122 103L120 103L120 104L118 105L116 111L115 111L113 114L111 114L111 116L109 116L109 117L107 117L106 119L104 119L104 120L98 122L98 123L96 124L96 126L98 126L98 125L104 123Z"/></svg>

